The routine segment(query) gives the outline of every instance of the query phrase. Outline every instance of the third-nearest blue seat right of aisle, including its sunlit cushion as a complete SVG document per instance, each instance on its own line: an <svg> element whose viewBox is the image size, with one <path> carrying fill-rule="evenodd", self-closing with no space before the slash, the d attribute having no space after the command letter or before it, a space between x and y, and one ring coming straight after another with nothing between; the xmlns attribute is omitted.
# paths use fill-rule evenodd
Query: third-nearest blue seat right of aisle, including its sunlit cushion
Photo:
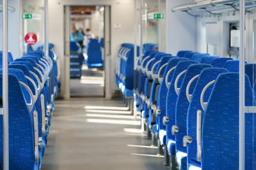
<svg viewBox="0 0 256 170"><path fill-rule="evenodd" d="M187 169L187 149L183 146L183 137L186 136L186 118L188 112L189 101L186 96L187 86L191 78L201 73L202 69L212 67L210 64L191 64L188 69L182 72L184 75L182 84L180 88L175 86L175 92L178 95L176 108L175 108L175 125L173 129L179 129L179 131L173 131L172 134L175 135L175 148L176 148L176 158L180 169ZM180 74L182 74L180 73ZM180 75L179 74L179 75ZM176 78L175 84L179 81L179 77ZM189 84L188 92L191 94L195 88L196 81Z"/></svg>

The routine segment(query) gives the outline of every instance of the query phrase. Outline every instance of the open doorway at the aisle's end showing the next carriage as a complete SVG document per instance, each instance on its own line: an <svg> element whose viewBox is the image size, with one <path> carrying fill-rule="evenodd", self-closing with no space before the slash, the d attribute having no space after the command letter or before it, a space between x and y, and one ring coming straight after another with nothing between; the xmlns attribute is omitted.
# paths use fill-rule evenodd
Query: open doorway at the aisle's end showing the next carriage
<svg viewBox="0 0 256 170"><path fill-rule="evenodd" d="M65 6L65 90L70 97L106 96L108 10L109 6Z"/></svg>

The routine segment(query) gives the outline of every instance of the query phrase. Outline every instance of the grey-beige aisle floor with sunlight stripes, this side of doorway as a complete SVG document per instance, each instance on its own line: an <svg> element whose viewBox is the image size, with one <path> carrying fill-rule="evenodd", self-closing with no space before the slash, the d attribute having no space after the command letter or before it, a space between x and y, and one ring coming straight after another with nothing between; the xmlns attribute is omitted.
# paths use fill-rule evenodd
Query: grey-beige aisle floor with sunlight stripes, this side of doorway
<svg viewBox="0 0 256 170"><path fill-rule="evenodd" d="M167 169L121 99L56 101L42 170Z"/></svg>

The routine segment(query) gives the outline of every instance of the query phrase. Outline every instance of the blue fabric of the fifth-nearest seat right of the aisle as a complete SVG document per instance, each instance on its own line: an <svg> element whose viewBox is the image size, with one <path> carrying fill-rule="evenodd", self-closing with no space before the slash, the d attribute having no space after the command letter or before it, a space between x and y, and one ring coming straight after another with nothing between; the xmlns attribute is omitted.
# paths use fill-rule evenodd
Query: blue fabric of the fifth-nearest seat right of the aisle
<svg viewBox="0 0 256 170"><path fill-rule="evenodd" d="M159 87L159 93L158 93L158 97L157 97L157 108L159 108L159 110L161 110L161 114L158 115L157 126L158 126L158 131L159 131L159 139L160 139L160 142L162 145L166 145L166 129L165 129L165 126L163 125L163 117L166 115L166 95L168 92L168 87L166 87L166 76L167 76L168 71L170 69L172 69L173 67L176 67L178 62L181 60L188 60L188 59L179 58L179 57L170 59L170 61L168 62L168 65L166 66L166 68L164 70L163 81ZM172 80L174 71L175 71L175 68L168 75L168 78L167 78L168 82L170 82ZM175 153L173 153L173 155L174 154Z"/></svg>

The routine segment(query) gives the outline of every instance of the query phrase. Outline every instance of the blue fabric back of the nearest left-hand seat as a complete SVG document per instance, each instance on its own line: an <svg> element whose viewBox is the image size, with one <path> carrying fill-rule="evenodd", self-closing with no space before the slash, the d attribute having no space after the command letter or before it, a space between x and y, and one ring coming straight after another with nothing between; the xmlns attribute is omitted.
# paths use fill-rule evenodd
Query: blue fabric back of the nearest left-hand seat
<svg viewBox="0 0 256 170"><path fill-rule="evenodd" d="M8 75L9 83L9 162L10 169L39 169L35 161L33 115L29 112L15 74ZM0 74L0 96L3 74ZM3 122L3 117L0 117ZM3 124L0 124L0 163L3 165ZM26 136L26 138L24 138Z"/></svg>

